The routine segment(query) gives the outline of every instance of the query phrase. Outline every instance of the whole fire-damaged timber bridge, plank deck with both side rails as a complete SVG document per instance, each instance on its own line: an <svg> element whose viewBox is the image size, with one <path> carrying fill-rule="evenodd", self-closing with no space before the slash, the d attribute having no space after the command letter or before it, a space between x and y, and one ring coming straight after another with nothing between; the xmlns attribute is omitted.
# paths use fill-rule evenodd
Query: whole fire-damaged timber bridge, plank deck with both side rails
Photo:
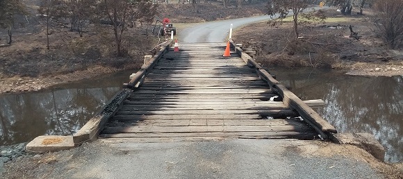
<svg viewBox="0 0 403 179"><path fill-rule="evenodd" d="M131 76L104 110L73 136L139 142L225 138L327 139L337 133L232 40L181 44L172 40ZM322 102L323 103L323 102Z"/></svg>

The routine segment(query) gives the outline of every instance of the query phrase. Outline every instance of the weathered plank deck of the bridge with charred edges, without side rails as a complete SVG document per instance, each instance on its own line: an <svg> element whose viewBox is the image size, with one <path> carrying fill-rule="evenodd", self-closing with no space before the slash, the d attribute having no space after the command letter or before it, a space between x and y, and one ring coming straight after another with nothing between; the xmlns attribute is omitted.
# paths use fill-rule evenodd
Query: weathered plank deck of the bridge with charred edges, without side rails
<svg viewBox="0 0 403 179"><path fill-rule="evenodd" d="M124 100L100 137L135 139L297 138L318 134L225 44L168 51Z"/></svg>

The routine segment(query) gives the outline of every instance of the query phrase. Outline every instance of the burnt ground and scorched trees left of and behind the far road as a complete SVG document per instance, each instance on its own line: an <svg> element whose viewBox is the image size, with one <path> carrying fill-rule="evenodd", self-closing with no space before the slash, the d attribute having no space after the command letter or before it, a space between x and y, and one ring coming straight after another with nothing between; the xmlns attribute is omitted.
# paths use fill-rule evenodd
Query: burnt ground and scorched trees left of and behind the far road
<svg viewBox="0 0 403 179"><path fill-rule="evenodd" d="M262 0L3 0L0 78L140 67L158 44L156 17L179 22L263 15ZM106 73L106 72L100 72Z"/></svg>

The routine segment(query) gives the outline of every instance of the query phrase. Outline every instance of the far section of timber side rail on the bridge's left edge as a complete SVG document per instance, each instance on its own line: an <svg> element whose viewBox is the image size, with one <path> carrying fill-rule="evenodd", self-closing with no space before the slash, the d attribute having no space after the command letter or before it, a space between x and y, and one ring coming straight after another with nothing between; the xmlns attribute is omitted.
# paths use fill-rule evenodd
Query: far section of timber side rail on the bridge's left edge
<svg viewBox="0 0 403 179"><path fill-rule="evenodd" d="M172 39L165 42L165 44L163 44L162 48L159 51L157 51L154 57L151 58L151 60L149 60L147 64L142 65L141 69L137 73L135 73L135 75L133 76L133 78L131 78L129 83L124 84L124 87L133 89L136 87L138 83L142 83L142 80L144 80L145 76L149 74L149 71L151 71L151 69L154 68L158 60L163 56L163 54L167 51L167 49L170 49L170 46L172 45L173 42L174 40Z"/></svg>

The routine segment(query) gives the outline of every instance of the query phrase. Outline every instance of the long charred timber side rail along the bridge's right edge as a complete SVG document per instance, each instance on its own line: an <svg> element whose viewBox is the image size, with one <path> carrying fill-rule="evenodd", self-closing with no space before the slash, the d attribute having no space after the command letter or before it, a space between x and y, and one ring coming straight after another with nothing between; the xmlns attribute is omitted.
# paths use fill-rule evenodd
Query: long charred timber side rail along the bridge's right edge
<svg viewBox="0 0 403 179"><path fill-rule="evenodd" d="M236 46L236 43L233 40L229 40L231 47L235 49L236 53L241 56L242 60L247 63L249 67L256 69L256 73L260 78L265 80L268 85L270 85L270 89L274 90L275 92L279 93L281 97L283 97L283 103L299 113L299 115L312 126L316 132L318 132L322 138L327 139L327 135L329 133L337 133L336 128L331 126L331 124L324 120L320 115L309 108L304 101L298 98L293 92L290 92L285 86L281 85L279 81L273 78L273 76L263 69L261 65L259 65L251 56L247 53L243 52L239 46ZM331 137L330 135L329 137Z"/></svg>

